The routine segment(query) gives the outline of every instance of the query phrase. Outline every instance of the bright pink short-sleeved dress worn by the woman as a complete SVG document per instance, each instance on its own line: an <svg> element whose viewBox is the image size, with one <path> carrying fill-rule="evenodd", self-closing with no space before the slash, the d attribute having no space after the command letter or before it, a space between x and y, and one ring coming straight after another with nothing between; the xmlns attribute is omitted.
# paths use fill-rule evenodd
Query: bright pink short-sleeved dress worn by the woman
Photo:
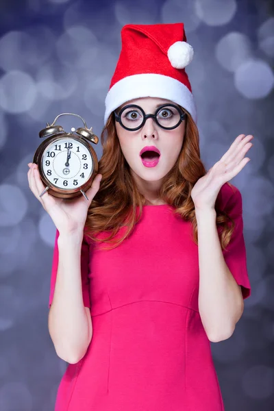
<svg viewBox="0 0 274 411"><path fill-rule="evenodd" d="M236 220L223 256L247 298L242 197L233 187L225 183L216 201ZM68 365L55 411L224 410L199 315L198 246L190 223L172 211L169 205L145 206L132 235L110 251L95 249L84 236L82 290L93 335L84 358ZM58 231L49 306L57 238Z"/></svg>

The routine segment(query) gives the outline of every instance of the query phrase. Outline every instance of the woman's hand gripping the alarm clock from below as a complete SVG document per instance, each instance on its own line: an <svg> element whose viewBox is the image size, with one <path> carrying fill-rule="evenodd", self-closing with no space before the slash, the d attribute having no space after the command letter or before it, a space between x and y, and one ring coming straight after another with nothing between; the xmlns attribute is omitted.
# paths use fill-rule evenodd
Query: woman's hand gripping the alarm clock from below
<svg viewBox="0 0 274 411"><path fill-rule="evenodd" d="M92 186L86 191L88 201L83 196L67 200L53 197L49 192L45 192L45 195L40 197L40 192L45 190L45 185L40 178L38 166L35 163L29 163L28 166L29 188L49 213L58 231L64 234L73 234L73 232L84 230L88 208L100 187L101 174L97 174Z"/></svg>

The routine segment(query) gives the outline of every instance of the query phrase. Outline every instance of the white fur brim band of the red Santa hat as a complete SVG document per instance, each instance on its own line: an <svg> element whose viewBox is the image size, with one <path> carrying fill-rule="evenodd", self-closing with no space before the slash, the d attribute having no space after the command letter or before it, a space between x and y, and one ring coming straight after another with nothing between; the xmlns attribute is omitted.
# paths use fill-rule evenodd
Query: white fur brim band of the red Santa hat
<svg viewBox="0 0 274 411"><path fill-rule="evenodd" d="M110 113L119 105L140 97L159 97L182 105L197 123L197 110L193 95L183 83L167 75L144 73L123 77L110 88L105 97L104 125Z"/></svg>

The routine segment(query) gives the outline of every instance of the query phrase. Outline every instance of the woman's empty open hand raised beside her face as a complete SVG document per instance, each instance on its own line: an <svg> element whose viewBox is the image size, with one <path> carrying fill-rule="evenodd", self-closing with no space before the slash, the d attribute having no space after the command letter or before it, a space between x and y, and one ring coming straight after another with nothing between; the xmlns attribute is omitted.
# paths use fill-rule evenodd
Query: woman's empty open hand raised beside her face
<svg viewBox="0 0 274 411"><path fill-rule="evenodd" d="M206 175L199 178L191 190L195 209L214 209L221 186L240 173L249 162L250 158L245 155L253 146L250 142L252 139L251 134L248 136L240 134L223 157L208 170Z"/></svg>

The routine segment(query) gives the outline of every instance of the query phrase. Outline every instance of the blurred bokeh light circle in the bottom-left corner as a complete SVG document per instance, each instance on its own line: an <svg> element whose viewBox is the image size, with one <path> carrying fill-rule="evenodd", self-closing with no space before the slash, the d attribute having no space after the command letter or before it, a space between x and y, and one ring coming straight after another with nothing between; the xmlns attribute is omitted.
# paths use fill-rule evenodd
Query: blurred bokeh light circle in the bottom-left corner
<svg viewBox="0 0 274 411"><path fill-rule="evenodd" d="M3 411L33 410L32 394L23 382L6 382L2 384L0 387L0 404Z"/></svg>

